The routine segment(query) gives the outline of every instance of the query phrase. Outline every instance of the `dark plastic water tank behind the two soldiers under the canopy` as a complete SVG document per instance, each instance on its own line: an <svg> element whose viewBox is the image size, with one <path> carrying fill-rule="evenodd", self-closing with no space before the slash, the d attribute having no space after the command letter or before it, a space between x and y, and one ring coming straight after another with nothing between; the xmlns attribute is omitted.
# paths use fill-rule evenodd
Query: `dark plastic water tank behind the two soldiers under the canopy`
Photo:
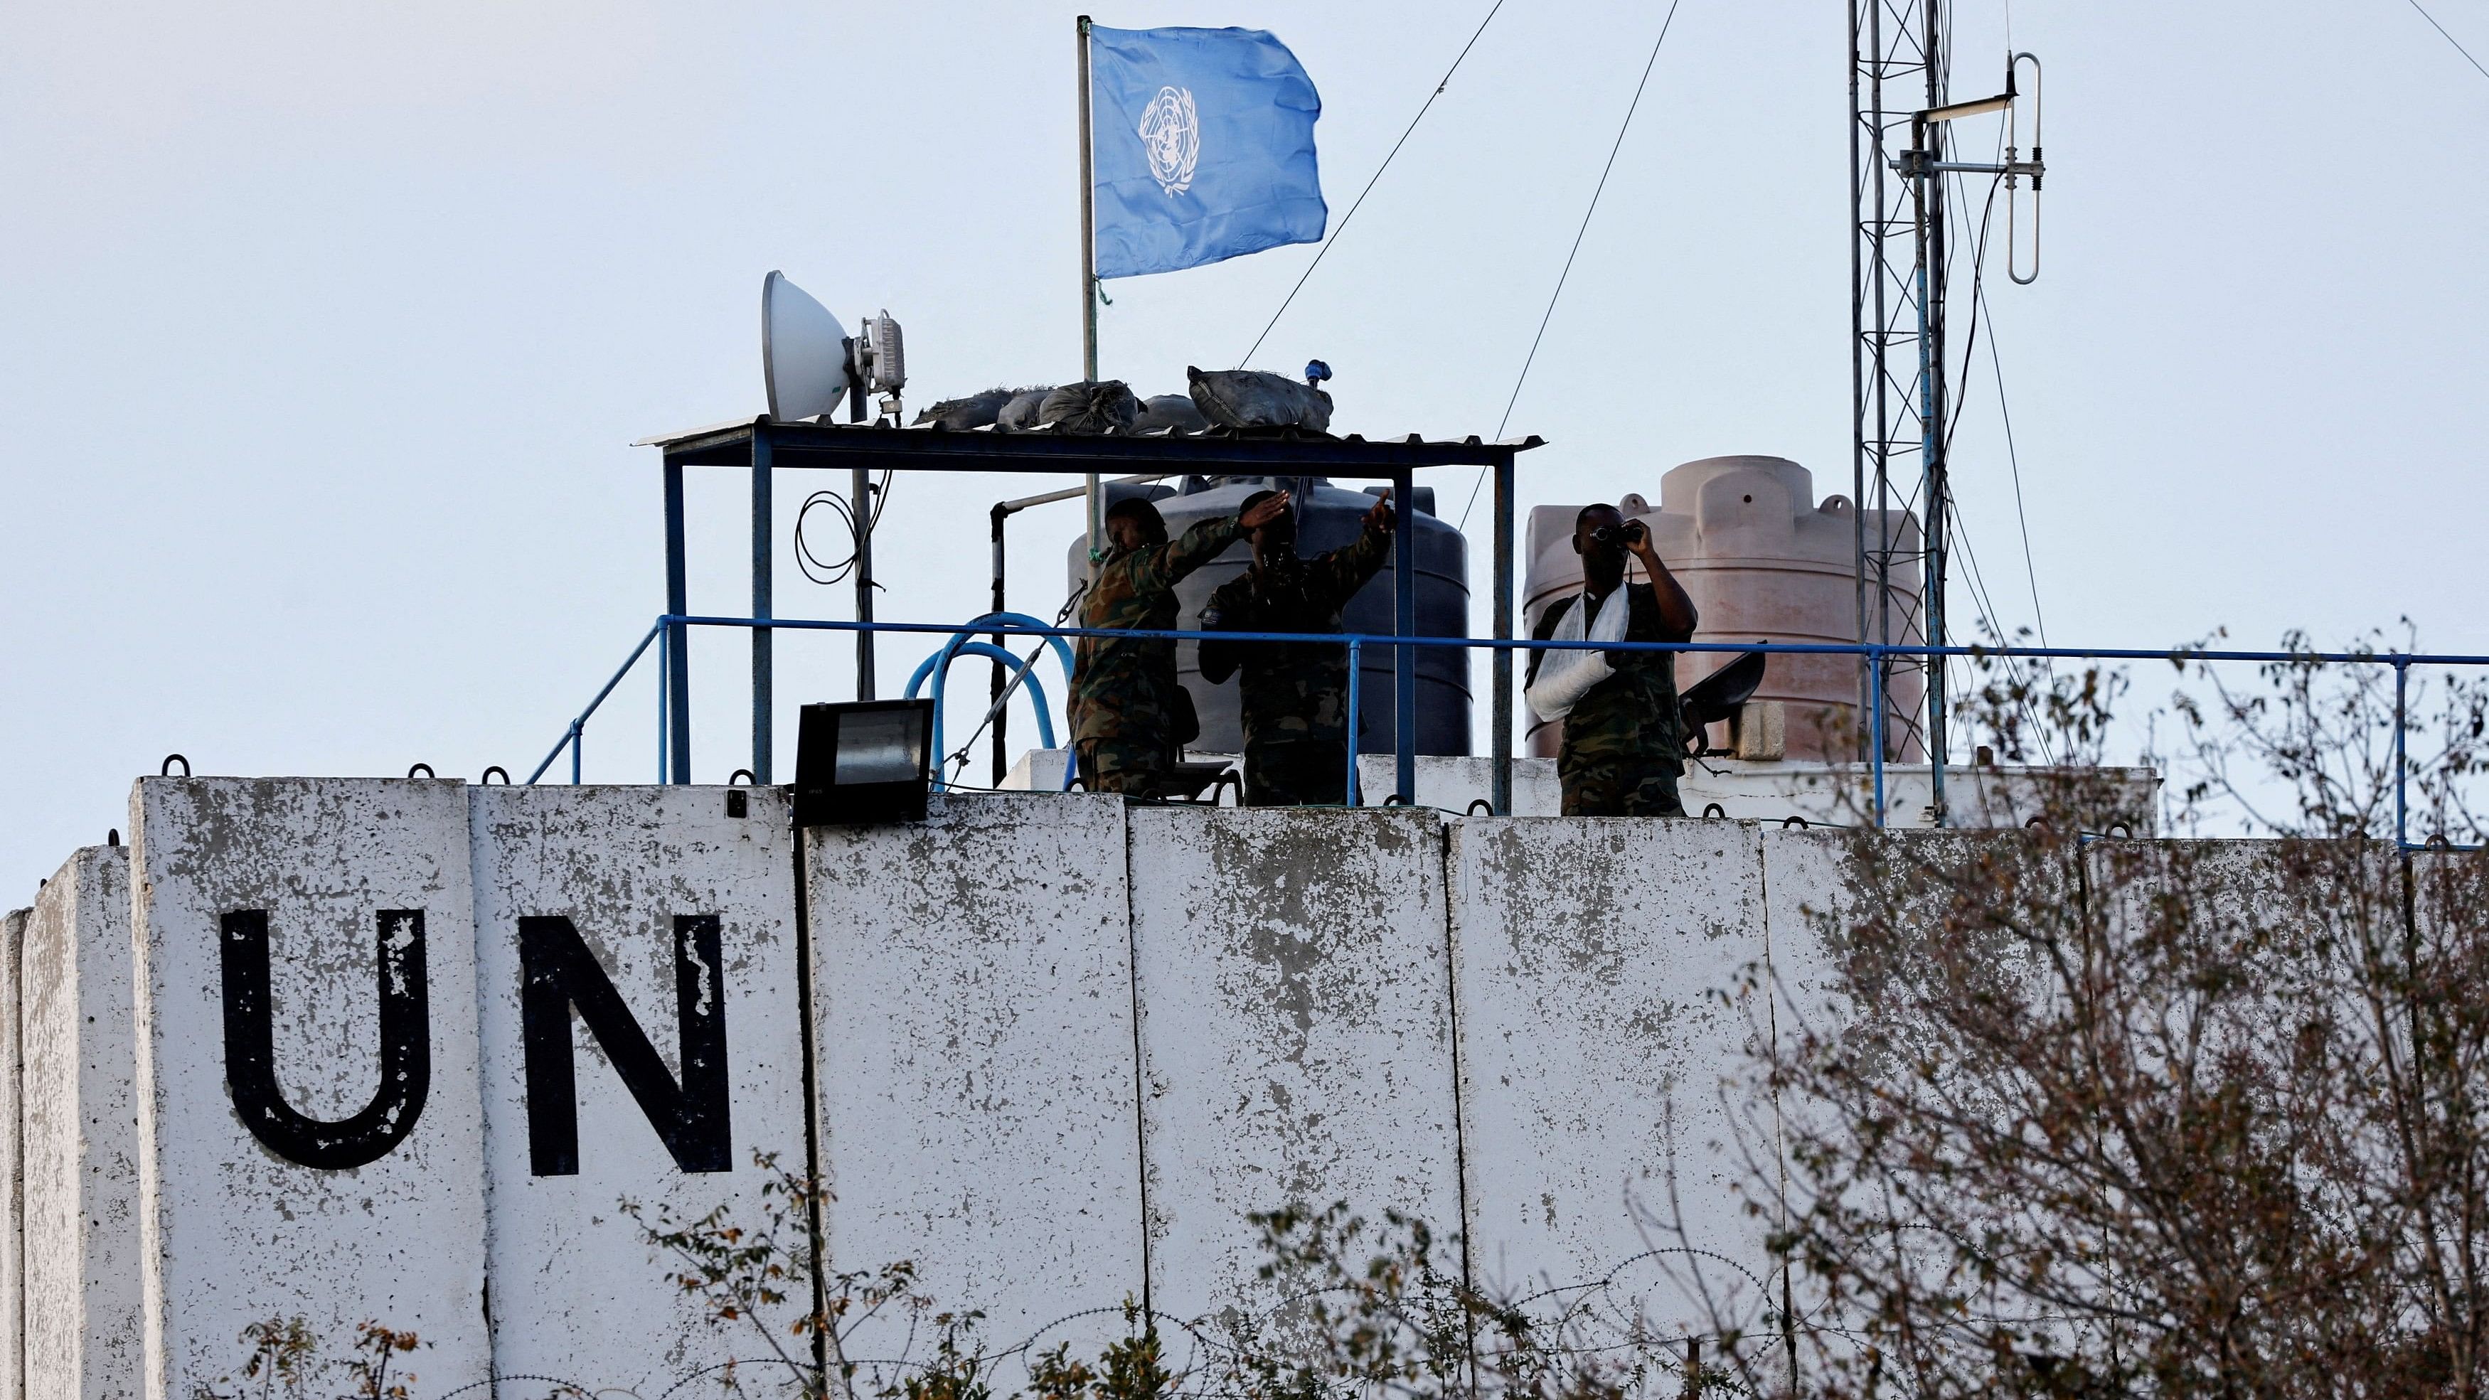
<svg viewBox="0 0 2489 1400"><path fill-rule="evenodd" d="M1327 477L1185 477L1180 487L1108 487L1108 500L1147 497L1167 520L1167 535L1182 535L1200 520L1235 515L1257 490L1289 490L1297 497L1297 552L1337 550L1364 530L1374 507L1371 492L1332 485ZM1381 487L1376 487L1381 490ZM1469 542L1459 530L1434 517L1434 487L1411 490L1416 537L1416 632L1419 637L1469 637ZM1394 542L1401 545L1399 540ZM1075 537L1068 552L1070 587L1088 574L1088 540ZM1175 597L1182 604L1180 627L1200 627L1210 592L1252 564L1252 545L1242 540L1225 555L1195 569ZM1342 627L1364 634L1389 634L1394 617L1391 562L1349 599ZM1359 671L1359 748L1389 753L1399 739L1391 729L1391 647L1366 647ZM1175 666L1192 691L1202 716L1202 736L1190 744L1200 753L1237 753L1244 748L1244 724L1237 714L1237 684L1202 681L1200 647L1180 642ZM1464 647L1416 649L1416 751L1469 753L1469 652Z"/></svg>

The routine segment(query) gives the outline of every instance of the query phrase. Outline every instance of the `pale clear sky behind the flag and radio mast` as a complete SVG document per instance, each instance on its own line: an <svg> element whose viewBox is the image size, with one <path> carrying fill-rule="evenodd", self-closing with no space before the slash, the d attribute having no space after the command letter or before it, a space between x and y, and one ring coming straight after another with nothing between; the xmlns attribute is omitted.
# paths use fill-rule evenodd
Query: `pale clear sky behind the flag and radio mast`
<svg viewBox="0 0 2489 1400"><path fill-rule="evenodd" d="M2489 0L2432 7L2489 52ZM1284 37L1324 94L1334 224L1483 12L1095 7ZM1262 363L1327 358L1339 430L1491 433L1658 17L1513 0ZM1959 97L2004 22L1961 5ZM2024 0L2011 25L2048 62L2046 276L1991 301L2051 639L2407 614L2489 652L2489 80L2407 0ZM0 10L10 903L124 826L167 751L525 776L662 604L657 458L625 443L762 405L772 266L849 321L889 306L916 403L1075 378L1070 32L1028 2ZM1844 60L1839 5L1683 0L1513 415L1553 443L1523 505L1655 497L1715 453L1849 490ZM1309 256L1115 283L1108 373L1162 393L1232 363ZM1956 490L2011 627L2031 584L1976 368ZM839 482L787 480L782 530L811 485ZM1456 515L1466 475L1436 485ZM901 482L884 617L981 612L986 507L1033 487ZM742 607L742 490L694 477L694 609ZM1060 597L1075 522L1016 522L1016 602ZM1481 542L1481 592L1483 567ZM782 569L782 614L846 607ZM846 652L779 644L782 773ZM717 781L747 753L742 642L697 661ZM650 778L642 679L590 778Z"/></svg>

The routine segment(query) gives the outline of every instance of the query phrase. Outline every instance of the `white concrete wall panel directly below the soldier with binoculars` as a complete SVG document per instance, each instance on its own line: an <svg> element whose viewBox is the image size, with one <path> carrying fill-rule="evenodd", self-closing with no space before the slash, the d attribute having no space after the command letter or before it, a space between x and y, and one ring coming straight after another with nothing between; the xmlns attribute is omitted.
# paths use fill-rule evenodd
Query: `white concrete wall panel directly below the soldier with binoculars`
<svg viewBox="0 0 2489 1400"><path fill-rule="evenodd" d="M1451 843L1476 1281L1593 1328L1707 1330L1693 1268L1747 1303L1770 1273L1735 1189L1775 1151L1735 1087L1770 1034L1757 828L1513 818Z"/></svg>

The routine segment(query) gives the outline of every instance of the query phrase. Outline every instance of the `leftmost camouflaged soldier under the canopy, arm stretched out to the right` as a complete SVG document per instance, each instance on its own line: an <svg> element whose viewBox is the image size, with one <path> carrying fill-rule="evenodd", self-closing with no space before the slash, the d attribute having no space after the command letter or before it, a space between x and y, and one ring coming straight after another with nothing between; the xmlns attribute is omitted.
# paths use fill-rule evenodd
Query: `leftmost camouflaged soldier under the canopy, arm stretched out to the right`
<svg viewBox="0 0 2489 1400"><path fill-rule="evenodd" d="M1167 542L1167 522L1147 500L1118 500L1105 512L1113 545L1080 602L1080 627L1175 629L1175 584L1217 560L1237 535L1287 512L1287 495L1230 520L1202 520ZM1175 679L1175 642L1083 637L1073 656L1073 753L1093 793L1147 796L1175 768L1190 714Z"/></svg>

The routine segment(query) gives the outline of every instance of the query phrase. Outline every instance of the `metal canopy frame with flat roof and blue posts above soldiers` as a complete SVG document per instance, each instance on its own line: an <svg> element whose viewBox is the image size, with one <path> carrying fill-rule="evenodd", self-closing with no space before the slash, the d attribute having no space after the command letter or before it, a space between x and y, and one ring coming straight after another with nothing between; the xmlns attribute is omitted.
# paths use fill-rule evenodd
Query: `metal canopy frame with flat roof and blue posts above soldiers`
<svg viewBox="0 0 2489 1400"><path fill-rule="evenodd" d="M744 467L752 472L752 776L772 781L772 629L777 592L777 552L772 520L772 472L777 467L846 470L861 482L871 472L1162 472L1202 477L1279 477L1324 475L1342 480L1391 482L1396 535L1409 540L1416 505L1411 472L1416 467L1488 467L1496 477L1496 639L1513 639L1513 458L1543 445L1541 438L1426 440L1406 438L1317 438L1317 435L1192 435L1192 438L1088 438L1055 433L943 433L931 428L884 428L866 423L779 423L767 413L742 423L694 428L670 438L642 438L635 448L665 453L665 694L670 711L667 781L692 781L692 656L682 530L684 467ZM854 505L859 522L871 520L871 502ZM859 527L859 555L871 547L871 530ZM869 562L864 564L871 567ZM1416 634L1416 557L1391 550L1394 634ZM871 622L866 592L859 589L859 622ZM859 649L871 647L871 632L859 634ZM1391 649L1391 729L1396 744L1396 791L1416 801L1416 647ZM864 652L869 656L869 652ZM1493 676L1493 806L1513 806L1513 654L1496 649ZM871 699L871 664L859 664L859 699Z"/></svg>

